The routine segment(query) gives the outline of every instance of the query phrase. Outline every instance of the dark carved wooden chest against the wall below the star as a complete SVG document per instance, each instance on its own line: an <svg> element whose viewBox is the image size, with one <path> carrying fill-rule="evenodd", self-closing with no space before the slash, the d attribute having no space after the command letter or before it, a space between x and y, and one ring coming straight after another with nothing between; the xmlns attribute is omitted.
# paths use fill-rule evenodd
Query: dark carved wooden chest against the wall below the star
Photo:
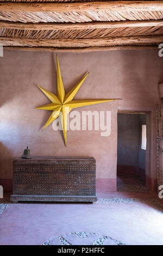
<svg viewBox="0 0 163 256"><path fill-rule="evenodd" d="M14 159L13 172L13 202L96 202L93 157Z"/></svg>

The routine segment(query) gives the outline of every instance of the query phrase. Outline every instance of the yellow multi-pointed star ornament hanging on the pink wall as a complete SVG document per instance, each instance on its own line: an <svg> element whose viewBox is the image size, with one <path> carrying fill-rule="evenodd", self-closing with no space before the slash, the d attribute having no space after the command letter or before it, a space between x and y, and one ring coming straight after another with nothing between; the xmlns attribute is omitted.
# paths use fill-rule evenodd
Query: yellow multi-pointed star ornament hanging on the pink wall
<svg viewBox="0 0 163 256"><path fill-rule="evenodd" d="M49 119L47 120L47 123L43 127L43 130L52 123L55 119L60 117L61 125L62 125L62 131L64 133L64 139L65 139L65 145L67 143L67 115L70 113L70 111L73 108L76 107L83 107L93 104L98 104L102 102L108 102L113 100L120 100L120 99L104 99L104 100L73 100L73 97L78 92L80 86L82 86L85 78L88 74L86 74L82 80L80 80L76 86L74 86L70 92L68 92L65 95L65 89L62 82L60 67L59 67L59 61L57 57L57 84L58 84L58 95L55 95L53 93L48 92L48 90L43 89L41 86L38 86L40 90L49 98L49 100L52 101L52 103L49 103L47 105L36 107L36 109L45 109L45 110L51 110L53 111Z"/></svg>

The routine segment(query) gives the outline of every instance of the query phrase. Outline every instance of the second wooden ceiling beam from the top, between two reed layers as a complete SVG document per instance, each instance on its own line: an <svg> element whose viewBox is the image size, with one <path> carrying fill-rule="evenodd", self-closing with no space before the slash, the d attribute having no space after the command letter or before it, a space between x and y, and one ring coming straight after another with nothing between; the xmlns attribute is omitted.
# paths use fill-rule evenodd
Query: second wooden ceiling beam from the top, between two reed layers
<svg viewBox="0 0 163 256"><path fill-rule="evenodd" d="M0 21L0 28L23 29L32 31L42 30L80 30L80 29L104 29L104 28L129 28L129 27L163 27L163 20L152 21L110 21L90 23L22 23Z"/></svg>

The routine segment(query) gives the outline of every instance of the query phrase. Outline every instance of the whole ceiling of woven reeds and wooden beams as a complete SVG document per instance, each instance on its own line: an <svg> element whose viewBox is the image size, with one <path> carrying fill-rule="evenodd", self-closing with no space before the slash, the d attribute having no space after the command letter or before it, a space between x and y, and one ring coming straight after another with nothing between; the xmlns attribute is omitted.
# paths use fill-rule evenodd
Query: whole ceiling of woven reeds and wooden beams
<svg viewBox="0 0 163 256"><path fill-rule="evenodd" d="M0 44L8 48L94 51L161 42L163 1L0 0Z"/></svg>

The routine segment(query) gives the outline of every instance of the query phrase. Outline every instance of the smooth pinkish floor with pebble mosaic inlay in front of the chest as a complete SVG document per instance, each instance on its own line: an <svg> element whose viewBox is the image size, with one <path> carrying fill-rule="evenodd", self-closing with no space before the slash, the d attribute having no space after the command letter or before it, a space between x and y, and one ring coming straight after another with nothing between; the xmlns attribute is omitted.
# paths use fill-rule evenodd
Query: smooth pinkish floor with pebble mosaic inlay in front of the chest
<svg viewBox="0 0 163 256"><path fill-rule="evenodd" d="M163 245L163 206L148 192L97 193L94 204L9 203L0 245ZM1 208L0 208L1 211Z"/></svg>

